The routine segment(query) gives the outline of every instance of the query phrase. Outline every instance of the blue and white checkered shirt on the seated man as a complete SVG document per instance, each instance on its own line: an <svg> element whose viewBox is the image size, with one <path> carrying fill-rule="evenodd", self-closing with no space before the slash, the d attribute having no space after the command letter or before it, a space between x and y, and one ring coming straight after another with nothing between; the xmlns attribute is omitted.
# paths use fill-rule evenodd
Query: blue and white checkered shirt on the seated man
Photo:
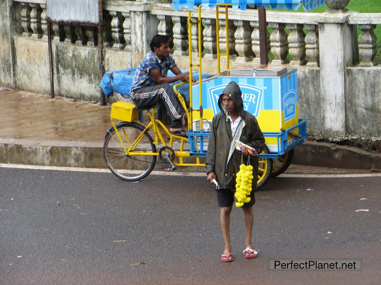
<svg viewBox="0 0 381 285"><path fill-rule="evenodd" d="M175 66L176 63L171 56L166 56L162 61L160 61L154 52L151 51L147 53L142 62L139 64L138 69L135 71L135 77L131 91L141 87L153 86L157 84L155 78L153 78L153 76L149 73L151 69L158 68L161 75L166 77L168 69L174 68Z"/></svg>

